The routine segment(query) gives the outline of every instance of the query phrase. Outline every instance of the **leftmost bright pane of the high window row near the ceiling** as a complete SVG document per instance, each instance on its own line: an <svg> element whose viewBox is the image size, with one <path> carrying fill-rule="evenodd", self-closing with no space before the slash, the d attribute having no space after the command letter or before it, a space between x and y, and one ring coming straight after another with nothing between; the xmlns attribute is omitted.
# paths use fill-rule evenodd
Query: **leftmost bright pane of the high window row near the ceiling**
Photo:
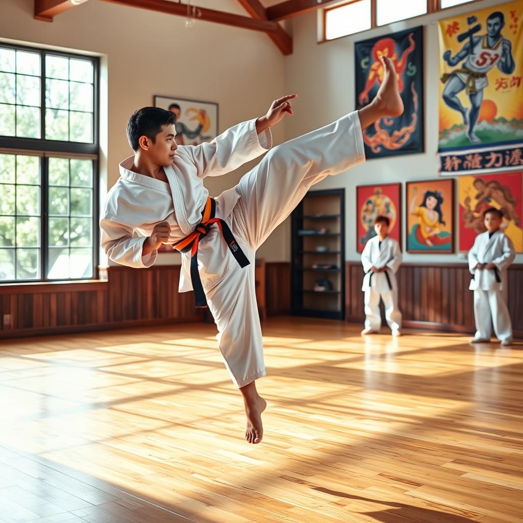
<svg viewBox="0 0 523 523"><path fill-rule="evenodd" d="M325 40L370 29L370 2L371 0L358 0L325 9Z"/></svg>

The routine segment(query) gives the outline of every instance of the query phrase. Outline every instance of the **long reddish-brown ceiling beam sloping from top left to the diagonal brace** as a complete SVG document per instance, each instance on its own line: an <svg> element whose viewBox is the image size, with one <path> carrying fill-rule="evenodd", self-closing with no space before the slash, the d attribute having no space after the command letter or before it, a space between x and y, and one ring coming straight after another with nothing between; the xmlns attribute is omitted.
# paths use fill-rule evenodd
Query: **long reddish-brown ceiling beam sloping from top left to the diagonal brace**
<svg viewBox="0 0 523 523"><path fill-rule="evenodd" d="M103 2L110 2L112 4L121 4L131 7L140 7L150 11L159 13L166 13L168 15L187 16L187 4L168 2L168 0L102 0ZM213 9L206 9L204 7L195 7L197 12L201 15L197 20L205 20L207 22L217 22L218 24L225 24L233 27L241 27L242 29L252 29L253 31L262 31L266 33L276 33L280 29L278 22L269 20L254 20L248 16L233 15L232 13L224 13L223 11L215 11Z"/></svg>

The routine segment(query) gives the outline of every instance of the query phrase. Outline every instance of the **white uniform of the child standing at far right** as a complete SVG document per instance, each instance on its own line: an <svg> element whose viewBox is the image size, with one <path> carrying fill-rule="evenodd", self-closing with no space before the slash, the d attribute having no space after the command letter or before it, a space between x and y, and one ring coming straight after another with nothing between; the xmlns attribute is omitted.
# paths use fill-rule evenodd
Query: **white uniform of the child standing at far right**
<svg viewBox="0 0 523 523"><path fill-rule="evenodd" d="M507 268L516 253L510 238L496 231L478 234L469 251L469 270L474 277L469 289L474 291L474 320L476 338L490 339L492 325L497 338L503 342L512 339L512 325L507 308ZM477 264L494 263L495 269L476 269Z"/></svg>

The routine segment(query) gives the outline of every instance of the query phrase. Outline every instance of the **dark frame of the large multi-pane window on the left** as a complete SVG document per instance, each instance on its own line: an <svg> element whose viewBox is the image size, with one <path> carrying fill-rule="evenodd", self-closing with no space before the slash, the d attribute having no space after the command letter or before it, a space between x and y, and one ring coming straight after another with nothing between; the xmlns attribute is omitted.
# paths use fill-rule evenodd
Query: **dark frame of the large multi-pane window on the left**
<svg viewBox="0 0 523 523"><path fill-rule="evenodd" d="M100 118L100 60L98 56L90 56L53 49L30 47L0 41L0 47L28 51L40 54L40 136L42 138L24 138L0 135L0 154L18 154L40 157L40 255L38 257L40 277L36 279L2 280L2 285L26 285L27 283L53 283L97 280L100 231L98 227L99 208L99 118ZM46 55L61 56L63 58L89 60L93 63L93 143L71 142L62 140L47 140L45 138L46 120ZM68 109L70 111L70 109ZM71 160L91 160L93 162L93 201L92 201L92 276L85 278L51 279L47 277L49 265L49 157L62 157ZM16 180L15 180L16 184ZM15 209L16 211L16 209ZM71 219L70 211L67 218ZM15 247L16 248L16 243ZM70 248L70 247L69 247ZM15 274L16 276L16 274Z"/></svg>

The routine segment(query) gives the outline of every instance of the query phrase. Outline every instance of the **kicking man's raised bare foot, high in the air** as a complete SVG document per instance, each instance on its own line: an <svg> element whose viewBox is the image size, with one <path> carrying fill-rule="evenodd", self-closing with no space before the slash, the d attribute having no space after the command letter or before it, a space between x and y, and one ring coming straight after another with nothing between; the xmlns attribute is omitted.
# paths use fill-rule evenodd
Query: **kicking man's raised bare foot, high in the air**
<svg viewBox="0 0 523 523"><path fill-rule="evenodd" d="M397 86L394 64L386 56L382 56L381 60L385 73L376 98L358 111L362 129L381 118L400 116L403 113L403 101Z"/></svg>

